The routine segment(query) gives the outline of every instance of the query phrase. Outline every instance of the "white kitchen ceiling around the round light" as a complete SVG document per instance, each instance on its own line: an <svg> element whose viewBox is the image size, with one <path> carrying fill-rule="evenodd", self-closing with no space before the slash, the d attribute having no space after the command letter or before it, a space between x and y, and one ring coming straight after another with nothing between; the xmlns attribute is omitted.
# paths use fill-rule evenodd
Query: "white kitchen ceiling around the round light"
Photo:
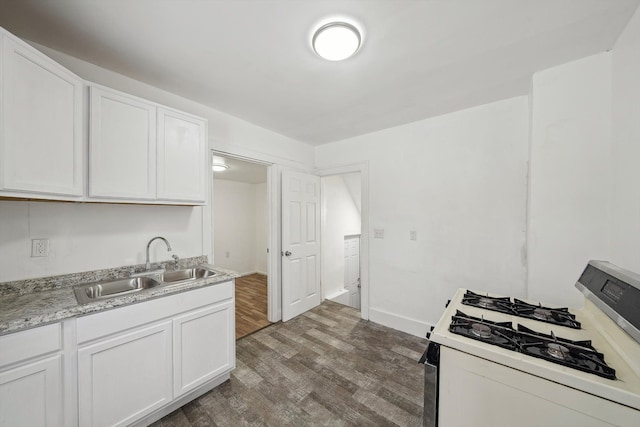
<svg viewBox="0 0 640 427"><path fill-rule="evenodd" d="M610 49L640 0L0 0L23 38L313 145L526 94ZM314 26L364 29L351 59Z"/></svg>

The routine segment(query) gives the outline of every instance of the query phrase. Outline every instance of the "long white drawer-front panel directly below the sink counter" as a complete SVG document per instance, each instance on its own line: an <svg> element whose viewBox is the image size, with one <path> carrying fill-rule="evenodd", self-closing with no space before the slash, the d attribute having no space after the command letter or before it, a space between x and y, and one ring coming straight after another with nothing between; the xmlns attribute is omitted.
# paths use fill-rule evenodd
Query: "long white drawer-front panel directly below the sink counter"
<svg viewBox="0 0 640 427"><path fill-rule="evenodd" d="M233 281L228 281L80 317L78 319L78 343L119 333L232 298Z"/></svg>

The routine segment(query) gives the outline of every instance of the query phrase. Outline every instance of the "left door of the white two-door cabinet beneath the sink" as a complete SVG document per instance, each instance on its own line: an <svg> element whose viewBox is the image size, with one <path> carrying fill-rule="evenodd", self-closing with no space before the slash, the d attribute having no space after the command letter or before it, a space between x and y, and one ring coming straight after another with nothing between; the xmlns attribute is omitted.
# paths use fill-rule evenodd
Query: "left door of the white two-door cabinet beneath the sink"
<svg viewBox="0 0 640 427"><path fill-rule="evenodd" d="M172 400L171 322L78 349L81 426L123 426Z"/></svg>

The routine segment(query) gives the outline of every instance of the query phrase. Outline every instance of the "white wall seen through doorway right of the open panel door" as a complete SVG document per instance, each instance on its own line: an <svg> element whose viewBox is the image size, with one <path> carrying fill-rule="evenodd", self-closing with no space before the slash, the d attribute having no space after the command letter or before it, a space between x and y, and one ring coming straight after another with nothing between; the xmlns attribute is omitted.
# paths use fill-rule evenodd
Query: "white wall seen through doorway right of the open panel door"
<svg viewBox="0 0 640 427"><path fill-rule="evenodd" d="M360 200L354 200L345 177L358 194L360 174L352 173L323 177L321 230L322 298L344 288L344 237L360 234ZM348 297L347 297L348 300Z"/></svg>

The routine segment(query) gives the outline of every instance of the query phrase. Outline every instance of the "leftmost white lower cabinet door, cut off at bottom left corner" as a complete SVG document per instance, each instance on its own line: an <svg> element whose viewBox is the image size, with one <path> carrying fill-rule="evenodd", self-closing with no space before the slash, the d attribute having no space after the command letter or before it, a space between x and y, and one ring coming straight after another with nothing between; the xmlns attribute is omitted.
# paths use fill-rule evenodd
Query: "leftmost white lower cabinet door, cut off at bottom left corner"
<svg viewBox="0 0 640 427"><path fill-rule="evenodd" d="M0 372L0 426L61 425L60 355Z"/></svg>

